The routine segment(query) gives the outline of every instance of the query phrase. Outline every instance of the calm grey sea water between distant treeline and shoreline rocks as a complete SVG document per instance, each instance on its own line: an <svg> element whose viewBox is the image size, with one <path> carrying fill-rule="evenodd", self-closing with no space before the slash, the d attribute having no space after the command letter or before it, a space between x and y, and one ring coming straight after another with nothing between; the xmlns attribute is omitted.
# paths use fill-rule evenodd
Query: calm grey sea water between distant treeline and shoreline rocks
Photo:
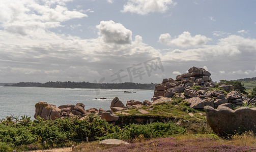
<svg viewBox="0 0 256 152"><path fill-rule="evenodd" d="M131 91L136 93L124 93ZM109 109L113 98L126 104L129 100L144 101L153 97L154 90L121 89L70 89L70 88L36 88L0 86L0 119L6 116L31 116L35 114L35 104L47 102L57 107L64 104L83 103L84 108ZM105 97L107 99L99 99ZM97 100L95 98L98 98Z"/></svg>

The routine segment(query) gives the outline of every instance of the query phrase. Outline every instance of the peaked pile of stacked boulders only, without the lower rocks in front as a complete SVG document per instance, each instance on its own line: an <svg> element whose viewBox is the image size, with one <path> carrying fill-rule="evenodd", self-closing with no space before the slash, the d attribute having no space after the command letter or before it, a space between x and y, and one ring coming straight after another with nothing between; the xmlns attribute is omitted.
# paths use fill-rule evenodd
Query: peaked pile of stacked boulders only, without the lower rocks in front
<svg viewBox="0 0 256 152"><path fill-rule="evenodd" d="M175 93L182 93L192 86L201 86L201 90L207 90L207 87L215 87L210 75L211 73L204 68L191 67L188 73L177 75L176 80L172 78L163 79L161 84L155 86L152 100L158 99L156 97L159 96L173 97ZM191 97L200 95L192 90L187 90L186 93Z"/></svg>

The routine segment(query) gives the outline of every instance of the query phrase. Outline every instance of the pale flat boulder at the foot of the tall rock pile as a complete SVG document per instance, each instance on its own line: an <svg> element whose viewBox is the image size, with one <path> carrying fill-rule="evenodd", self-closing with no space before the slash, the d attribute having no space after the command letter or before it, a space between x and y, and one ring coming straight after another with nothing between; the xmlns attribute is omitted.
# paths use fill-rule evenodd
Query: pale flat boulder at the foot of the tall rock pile
<svg viewBox="0 0 256 152"><path fill-rule="evenodd" d="M200 98L200 97L194 97L186 100L188 103L190 103L190 107L192 108L204 108L206 105L214 106L214 102L211 98Z"/></svg>

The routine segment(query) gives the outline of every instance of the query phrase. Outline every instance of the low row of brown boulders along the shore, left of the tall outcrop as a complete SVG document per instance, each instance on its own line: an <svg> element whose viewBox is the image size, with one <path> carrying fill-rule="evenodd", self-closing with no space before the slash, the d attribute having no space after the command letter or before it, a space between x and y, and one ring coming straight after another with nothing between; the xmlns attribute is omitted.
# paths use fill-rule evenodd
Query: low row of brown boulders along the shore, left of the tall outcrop
<svg viewBox="0 0 256 152"><path fill-rule="evenodd" d="M35 105L36 112L34 118L41 117L44 120L55 120L55 119L65 119L65 118L75 118L78 117L79 120L84 120L88 118L90 113L93 113L96 116L99 116L101 119L106 120L107 122L118 121L119 117L115 115L116 111L129 108L140 108L142 106L150 106L152 103L148 100L143 102L130 100L127 101L126 106L119 100L118 97L115 97L110 104L110 110L103 110L102 108L90 108L84 109L83 103L77 103L76 105L67 104L56 107L53 104L47 102L39 102Z"/></svg>

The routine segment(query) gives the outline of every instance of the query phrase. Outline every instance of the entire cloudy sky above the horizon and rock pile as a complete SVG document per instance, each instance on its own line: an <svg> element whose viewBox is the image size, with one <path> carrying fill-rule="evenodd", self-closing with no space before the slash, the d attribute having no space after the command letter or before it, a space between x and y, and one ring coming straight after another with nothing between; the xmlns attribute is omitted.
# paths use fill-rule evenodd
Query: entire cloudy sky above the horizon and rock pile
<svg viewBox="0 0 256 152"><path fill-rule="evenodd" d="M256 1L1 0L0 82L256 77Z"/></svg>

